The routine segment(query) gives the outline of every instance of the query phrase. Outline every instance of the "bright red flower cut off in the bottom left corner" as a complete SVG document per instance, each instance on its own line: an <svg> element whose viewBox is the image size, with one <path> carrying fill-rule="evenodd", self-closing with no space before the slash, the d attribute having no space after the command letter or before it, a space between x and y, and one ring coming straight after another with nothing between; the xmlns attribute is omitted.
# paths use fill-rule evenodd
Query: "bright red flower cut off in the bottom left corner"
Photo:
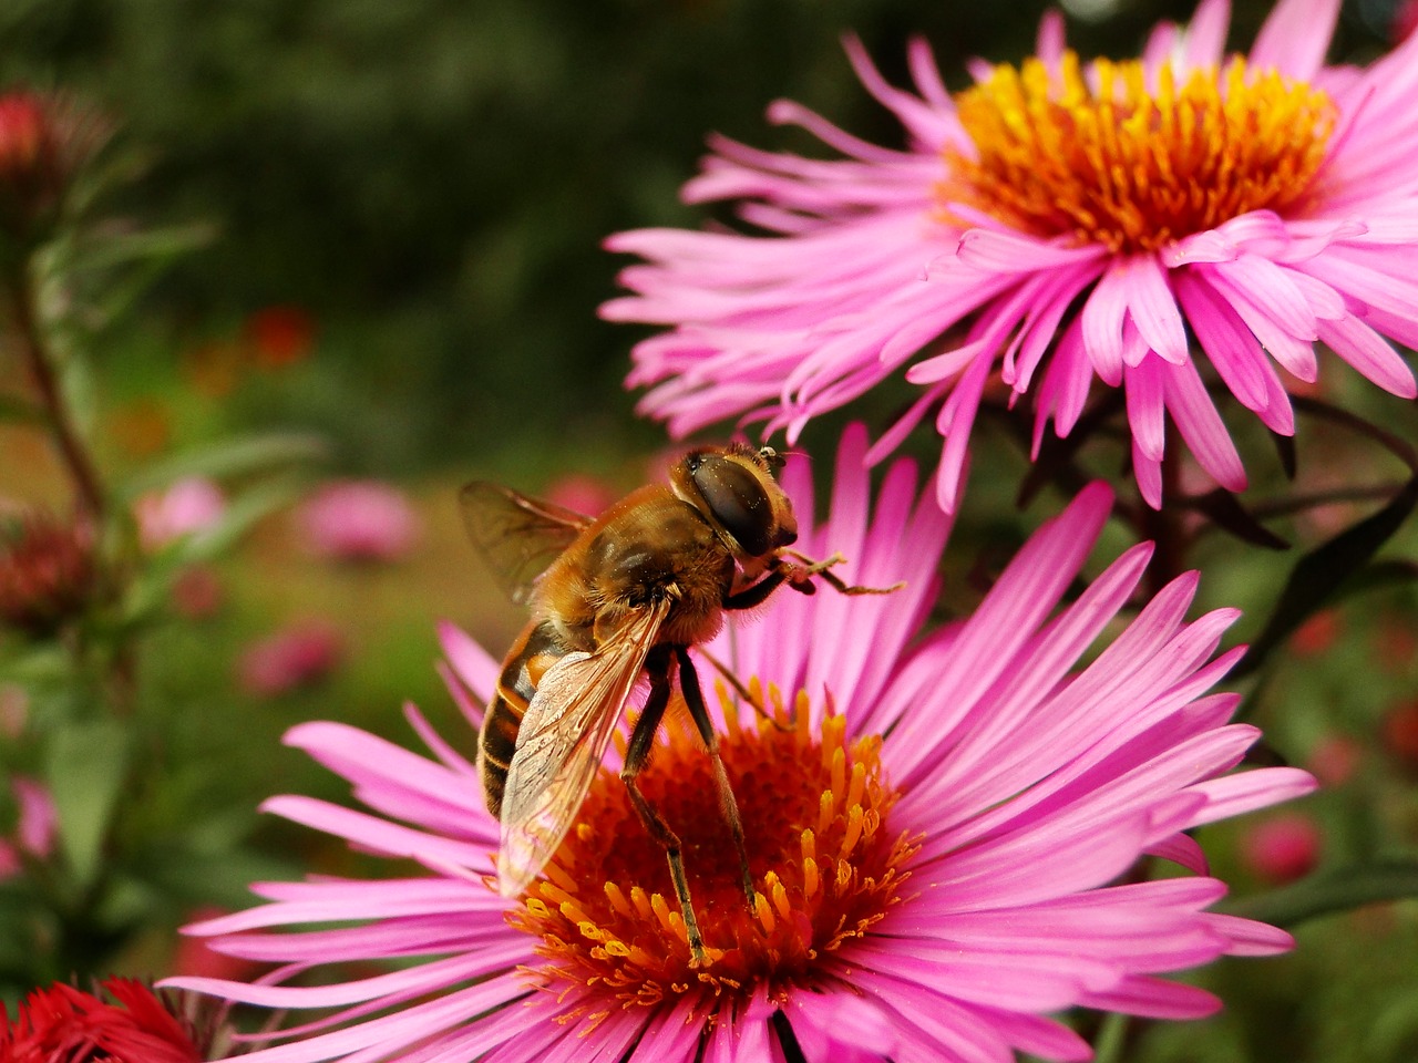
<svg viewBox="0 0 1418 1063"><path fill-rule="evenodd" d="M191 1033L163 999L132 978L109 978L102 996L71 985L35 989L10 1019L0 1005L4 1063L199 1063ZM106 998L106 999L105 999Z"/></svg>

